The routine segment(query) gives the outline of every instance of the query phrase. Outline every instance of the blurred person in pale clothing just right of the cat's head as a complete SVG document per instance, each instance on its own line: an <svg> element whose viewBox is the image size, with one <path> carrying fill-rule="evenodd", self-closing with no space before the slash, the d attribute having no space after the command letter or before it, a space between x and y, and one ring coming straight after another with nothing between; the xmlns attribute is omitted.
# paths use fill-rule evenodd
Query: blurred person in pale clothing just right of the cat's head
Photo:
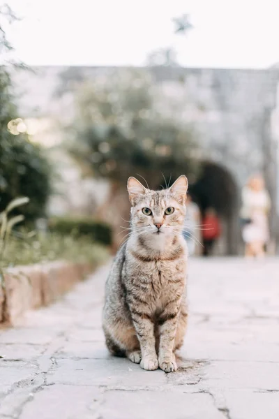
<svg viewBox="0 0 279 419"><path fill-rule="evenodd" d="M199 243L199 207L193 202L192 196L188 193L186 200L186 219L184 223L183 236L187 242L189 256L197 253L197 244Z"/></svg>

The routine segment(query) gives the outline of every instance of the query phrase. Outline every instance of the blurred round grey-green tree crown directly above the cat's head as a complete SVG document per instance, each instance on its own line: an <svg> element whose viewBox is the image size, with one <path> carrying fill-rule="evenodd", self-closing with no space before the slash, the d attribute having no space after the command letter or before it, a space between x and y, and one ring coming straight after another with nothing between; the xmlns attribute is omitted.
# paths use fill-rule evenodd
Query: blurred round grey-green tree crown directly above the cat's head
<svg viewBox="0 0 279 419"><path fill-rule="evenodd" d="M166 177L197 172L193 127L171 115L167 98L146 71L121 69L85 81L75 90L75 103L77 117L67 138L72 134L70 152L85 172L121 183L139 173L153 187L161 172Z"/></svg>

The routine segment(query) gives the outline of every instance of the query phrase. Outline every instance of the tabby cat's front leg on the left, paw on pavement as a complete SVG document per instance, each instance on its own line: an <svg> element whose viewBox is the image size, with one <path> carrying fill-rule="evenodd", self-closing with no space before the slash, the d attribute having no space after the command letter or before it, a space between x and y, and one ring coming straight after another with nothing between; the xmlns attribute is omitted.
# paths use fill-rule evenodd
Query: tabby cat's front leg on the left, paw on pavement
<svg viewBox="0 0 279 419"><path fill-rule="evenodd" d="M155 349L154 323L146 313L140 313L131 308L131 314L137 338L140 341L142 360L140 366L149 371L158 368L158 357Z"/></svg>

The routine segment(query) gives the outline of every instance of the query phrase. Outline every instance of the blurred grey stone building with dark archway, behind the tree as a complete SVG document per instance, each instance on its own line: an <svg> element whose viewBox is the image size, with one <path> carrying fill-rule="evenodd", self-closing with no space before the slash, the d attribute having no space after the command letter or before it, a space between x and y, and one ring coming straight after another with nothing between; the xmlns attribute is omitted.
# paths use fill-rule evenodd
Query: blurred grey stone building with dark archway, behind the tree
<svg viewBox="0 0 279 419"><path fill-rule="evenodd" d="M110 77L116 68L41 67L33 70L15 74L21 94L20 117L37 124L34 140L53 147L63 139L61 126L73 118L73 94L68 86L85 79ZM236 253L239 249L239 191L253 172L262 171L266 178L273 201L271 231L275 239L279 206L278 69L162 66L148 68L148 71L153 83L160 85L163 96L167 97L167 101L162 101L165 115L194 124L199 134L201 147L196 157L204 162L204 172L200 179L192 179L193 191L201 207L215 207L223 219L223 253ZM71 165L69 163L68 168L77 179L78 175L74 175L77 169ZM62 175L70 179L67 170ZM92 184L92 188L100 200L102 193L107 194L107 186L98 189L97 184ZM87 184L86 188L91 186ZM78 196L81 189L77 180L75 189ZM68 189L72 200L75 200L75 189ZM93 200L92 196L90 199Z"/></svg>

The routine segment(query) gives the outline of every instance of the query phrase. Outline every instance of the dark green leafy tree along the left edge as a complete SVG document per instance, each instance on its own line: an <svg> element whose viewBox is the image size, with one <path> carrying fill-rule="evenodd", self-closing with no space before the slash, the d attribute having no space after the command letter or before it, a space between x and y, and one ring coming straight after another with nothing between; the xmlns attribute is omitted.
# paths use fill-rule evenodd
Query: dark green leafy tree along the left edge
<svg viewBox="0 0 279 419"><path fill-rule="evenodd" d="M0 58L12 50L2 22L15 18L7 5L0 8ZM0 212L13 198L28 196L30 203L22 213L36 219L44 214L50 194L50 166L43 150L29 142L26 134L8 129L9 122L17 118L10 68L14 68L11 63L0 66Z"/></svg>

